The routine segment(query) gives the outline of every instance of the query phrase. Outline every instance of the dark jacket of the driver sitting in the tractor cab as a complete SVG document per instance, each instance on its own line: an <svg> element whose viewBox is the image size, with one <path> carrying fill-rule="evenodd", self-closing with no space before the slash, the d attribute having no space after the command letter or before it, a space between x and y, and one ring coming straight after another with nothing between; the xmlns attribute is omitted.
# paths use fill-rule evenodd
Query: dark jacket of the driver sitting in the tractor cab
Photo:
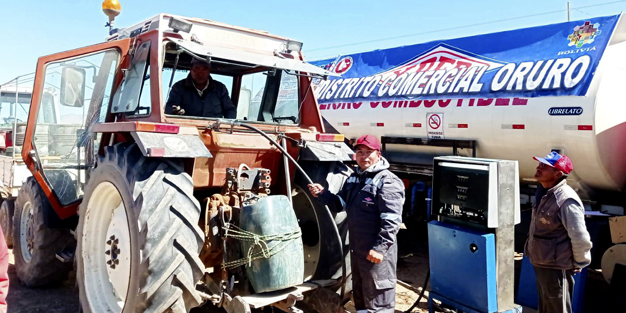
<svg viewBox="0 0 626 313"><path fill-rule="evenodd" d="M210 118L236 118L237 107L230 101L228 90L219 81L208 78L208 87L198 95L191 74L172 86L165 103L165 114L173 114L172 106L180 106L186 116Z"/></svg>

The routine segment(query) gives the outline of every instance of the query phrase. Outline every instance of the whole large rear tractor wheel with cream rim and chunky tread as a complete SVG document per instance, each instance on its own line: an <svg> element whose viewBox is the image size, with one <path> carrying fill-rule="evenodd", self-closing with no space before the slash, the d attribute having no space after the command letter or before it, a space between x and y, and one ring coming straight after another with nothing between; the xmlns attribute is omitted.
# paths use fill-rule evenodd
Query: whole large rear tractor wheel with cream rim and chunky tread
<svg viewBox="0 0 626 313"><path fill-rule="evenodd" d="M180 160L108 146L91 171L76 228L83 312L189 312L202 299L200 203Z"/></svg>

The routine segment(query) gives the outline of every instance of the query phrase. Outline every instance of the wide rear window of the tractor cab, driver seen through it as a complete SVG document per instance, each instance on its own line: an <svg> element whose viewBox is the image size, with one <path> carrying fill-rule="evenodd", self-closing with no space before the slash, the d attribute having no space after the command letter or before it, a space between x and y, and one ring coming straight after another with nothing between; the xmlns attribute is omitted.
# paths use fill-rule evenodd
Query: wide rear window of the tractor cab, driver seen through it
<svg viewBox="0 0 626 313"><path fill-rule="evenodd" d="M267 66L196 56L193 66L208 68L209 82L222 83L226 91L221 86L222 91L215 90L210 85L205 90L192 72L191 54L177 49L173 43L167 44L165 51L162 78L167 116L289 124L299 121L298 76Z"/></svg>

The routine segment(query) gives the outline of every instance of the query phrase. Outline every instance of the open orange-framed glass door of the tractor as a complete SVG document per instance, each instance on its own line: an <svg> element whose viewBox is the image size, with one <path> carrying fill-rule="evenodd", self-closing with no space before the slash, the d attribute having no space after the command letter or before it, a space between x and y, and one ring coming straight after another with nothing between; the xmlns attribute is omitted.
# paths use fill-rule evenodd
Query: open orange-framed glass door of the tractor
<svg viewBox="0 0 626 313"><path fill-rule="evenodd" d="M39 58L22 157L60 218L76 213L130 39Z"/></svg>

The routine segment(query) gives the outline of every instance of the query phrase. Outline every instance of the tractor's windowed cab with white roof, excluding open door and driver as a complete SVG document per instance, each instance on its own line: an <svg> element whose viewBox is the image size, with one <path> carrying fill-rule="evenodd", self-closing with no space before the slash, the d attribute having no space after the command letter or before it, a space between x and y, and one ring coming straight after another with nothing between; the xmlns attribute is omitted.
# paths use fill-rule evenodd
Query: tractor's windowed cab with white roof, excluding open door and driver
<svg viewBox="0 0 626 313"><path fill-rule="evenodd" d="M300 119L300 105L313 99L312 91L300 88L310 89L309 78L326 78L331 72L306 63L300 53L302 43L264 31L168 14L117 32L109 40L132 34L138 39L113 100L114 113L131 118L156 115L164 122L223 118L163 111L172 85L187 78L196 58L208 64L212 80L227 87L237 106L237 120L322 130L319 121Z"/></svg>

